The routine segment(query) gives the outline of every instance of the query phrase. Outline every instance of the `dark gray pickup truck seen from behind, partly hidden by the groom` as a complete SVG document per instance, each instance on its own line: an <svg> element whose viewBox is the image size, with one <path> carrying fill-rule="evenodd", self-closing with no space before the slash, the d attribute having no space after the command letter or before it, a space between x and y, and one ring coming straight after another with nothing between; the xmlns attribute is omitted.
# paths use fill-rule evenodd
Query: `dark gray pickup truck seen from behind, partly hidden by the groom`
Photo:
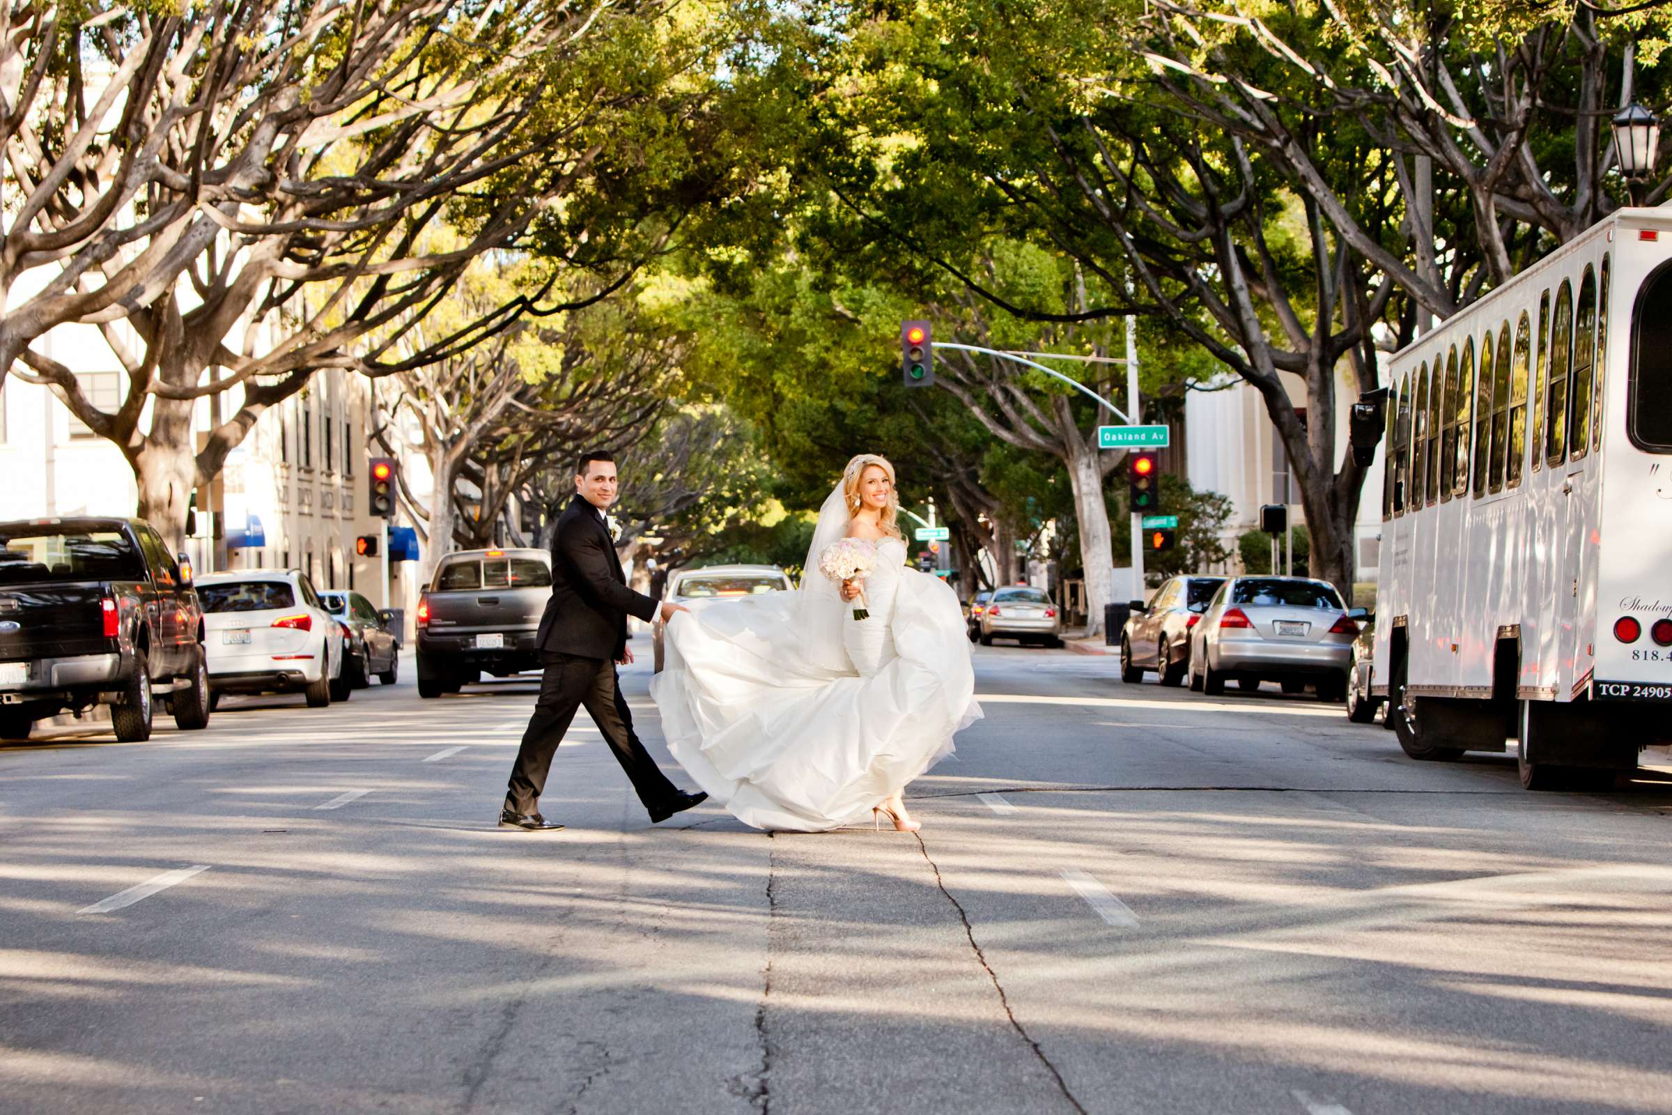
<svg viewBox="0 0 1672 1115"><path fill-rule="evenodd" d="M545 550L448 553L418 598L418 695L456 694L482 674L540 669L535 630L552 595Z"/></svg>

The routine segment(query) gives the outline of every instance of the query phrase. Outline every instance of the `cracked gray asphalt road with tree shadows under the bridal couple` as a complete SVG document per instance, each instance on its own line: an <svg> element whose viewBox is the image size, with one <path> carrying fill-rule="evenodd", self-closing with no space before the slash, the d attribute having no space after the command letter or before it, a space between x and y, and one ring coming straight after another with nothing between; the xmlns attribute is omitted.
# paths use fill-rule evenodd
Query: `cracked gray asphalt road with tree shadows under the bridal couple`
<svg viewBox="0 0 1672 1115"><path fill-rule="evenodd" d="M976 665L921 839L650 826L590 726L500 831L515 682L3 749L0 1112L1672 1112L1672 784Z"/></svg>

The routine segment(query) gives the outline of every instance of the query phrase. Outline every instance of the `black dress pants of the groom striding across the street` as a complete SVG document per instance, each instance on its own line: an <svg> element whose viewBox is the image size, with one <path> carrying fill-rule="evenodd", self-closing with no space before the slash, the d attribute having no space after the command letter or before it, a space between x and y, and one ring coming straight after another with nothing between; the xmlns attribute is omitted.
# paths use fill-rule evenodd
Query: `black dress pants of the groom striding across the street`
<svg viewBox="0 0 1672 1115"><path fill-rule="evenodd" d="M517 751L505 807L518 814L538 811L552 756L557 754L568 722L575 719L575 709L582 705L615 752L615 761L622 764L645 809L672 799L679 789L667 781L632 731L632 712L617 685L615 664L577 654L545 654L542 660L545 674L540 677L540 699L535 700Z"/></svg>

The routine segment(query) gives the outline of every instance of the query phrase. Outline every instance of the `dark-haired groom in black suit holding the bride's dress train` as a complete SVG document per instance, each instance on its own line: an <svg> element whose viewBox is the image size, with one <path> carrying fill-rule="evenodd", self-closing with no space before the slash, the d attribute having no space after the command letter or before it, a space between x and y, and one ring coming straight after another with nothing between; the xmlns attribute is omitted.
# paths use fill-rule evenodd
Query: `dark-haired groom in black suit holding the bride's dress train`
<svg viewBox="0 0 1672 1115"><path fill-rule="evenodd" d="M575 498L557 520L552 537L552 598L545 602L537 642L545 675L540 699L528 719L510 789L500 811L500 827L548 832L562 829L540 816L540 791L575 709L585 705L592 722L627 771L650 822L691 809L707 794L677 789L632 731L632 712L615 677L617 664L632 662L627 617L649 622L657 602L627 587L604 510L615 501L615 458L585 453L575 468ZM662 622L687 608L662 603Z"/></svg>

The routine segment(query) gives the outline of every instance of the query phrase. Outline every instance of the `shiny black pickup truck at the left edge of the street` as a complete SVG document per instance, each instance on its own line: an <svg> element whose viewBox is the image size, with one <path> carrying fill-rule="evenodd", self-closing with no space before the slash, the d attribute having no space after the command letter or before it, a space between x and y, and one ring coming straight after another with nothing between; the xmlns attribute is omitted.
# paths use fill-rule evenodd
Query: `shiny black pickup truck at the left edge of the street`
<svg viewBox="0 0 1672 1115"><path fill-rule="evenodd" d="M135 518L0 523L0 739L110 705L117 739L150 737L152 699L209 724L197 592Z"/></svg>

